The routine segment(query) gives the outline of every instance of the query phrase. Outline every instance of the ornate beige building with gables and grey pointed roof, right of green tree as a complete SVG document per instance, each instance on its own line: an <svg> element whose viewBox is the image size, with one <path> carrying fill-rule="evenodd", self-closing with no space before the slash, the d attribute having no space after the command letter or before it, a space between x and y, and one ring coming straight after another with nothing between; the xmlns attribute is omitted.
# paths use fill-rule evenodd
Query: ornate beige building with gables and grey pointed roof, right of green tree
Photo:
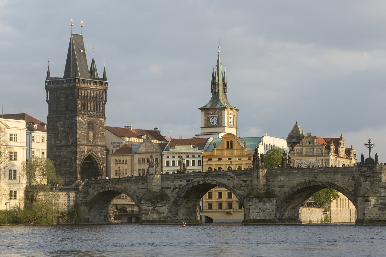
<svg viewBox="0 0 386 257"><path fill-rule="evenodd" d="M304 134L298 122L287 137L289 156L294 167L340 167L354 166L356 154L354 147L346 148L343 135L322 138Z"/></svg>

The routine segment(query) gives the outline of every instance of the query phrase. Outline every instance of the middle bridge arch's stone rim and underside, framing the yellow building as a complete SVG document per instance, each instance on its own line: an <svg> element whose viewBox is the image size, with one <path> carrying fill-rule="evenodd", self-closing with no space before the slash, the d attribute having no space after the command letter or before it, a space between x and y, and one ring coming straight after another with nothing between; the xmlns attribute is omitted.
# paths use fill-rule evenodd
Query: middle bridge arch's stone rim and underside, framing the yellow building
<svg viewBox="0 0 386 257"><path fill-rule="evenodd" d="M216 186L221 186L229 190L244 207L244 198L234 187L229 186L218 179L197 178L186 183L174 194L174 197L169 204L171 221L187 220L190 223L197 223L197 218L200 213L199 203L201 198L205 193ZM196 220L191 220L191 217L196 217Z"/></svg>

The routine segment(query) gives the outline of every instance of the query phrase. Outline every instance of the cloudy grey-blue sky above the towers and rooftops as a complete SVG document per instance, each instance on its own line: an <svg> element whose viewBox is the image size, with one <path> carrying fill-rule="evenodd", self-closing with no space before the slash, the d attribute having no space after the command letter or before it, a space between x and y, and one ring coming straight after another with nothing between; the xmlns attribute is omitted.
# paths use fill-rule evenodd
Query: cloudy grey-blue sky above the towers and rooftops
<svg viewBox="0 0 386 257"><path fill-rule="evenodd" d="M2 113L46 122L44 88L63 77L71 19L108 87L106 125L201 132L218 44L238 135L340 137L386 162L384 1L0 0Z"/></svg>

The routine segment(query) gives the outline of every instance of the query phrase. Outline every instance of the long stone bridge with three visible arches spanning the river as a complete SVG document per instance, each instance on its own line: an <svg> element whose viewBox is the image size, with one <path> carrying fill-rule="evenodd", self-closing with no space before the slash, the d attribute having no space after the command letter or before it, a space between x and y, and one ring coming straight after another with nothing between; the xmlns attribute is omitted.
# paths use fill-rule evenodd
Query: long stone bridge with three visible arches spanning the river
<svg viewBox="0 0 386 257"><path fill-rule="evenodd" d="M108 206L123 193L138 206L139 223L200 223L200 200L216 186L237 197L247 224L301 223L301 204L327 187L354 204L356 224L386 224L383 165L148 174L87 181L76 194L76 212L79 223L103 223Z"/></svg>

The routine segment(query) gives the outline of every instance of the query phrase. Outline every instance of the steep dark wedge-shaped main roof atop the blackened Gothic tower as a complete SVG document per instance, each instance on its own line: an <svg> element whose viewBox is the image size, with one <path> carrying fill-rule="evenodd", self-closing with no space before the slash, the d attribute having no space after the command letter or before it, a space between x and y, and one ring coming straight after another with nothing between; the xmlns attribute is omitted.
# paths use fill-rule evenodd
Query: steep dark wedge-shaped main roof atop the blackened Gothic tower
<svg viewBox="0 0 386 257"><path fill-rule="evenodd" d="M71 34L63 78L90 79L82 35Z"/></svg>

